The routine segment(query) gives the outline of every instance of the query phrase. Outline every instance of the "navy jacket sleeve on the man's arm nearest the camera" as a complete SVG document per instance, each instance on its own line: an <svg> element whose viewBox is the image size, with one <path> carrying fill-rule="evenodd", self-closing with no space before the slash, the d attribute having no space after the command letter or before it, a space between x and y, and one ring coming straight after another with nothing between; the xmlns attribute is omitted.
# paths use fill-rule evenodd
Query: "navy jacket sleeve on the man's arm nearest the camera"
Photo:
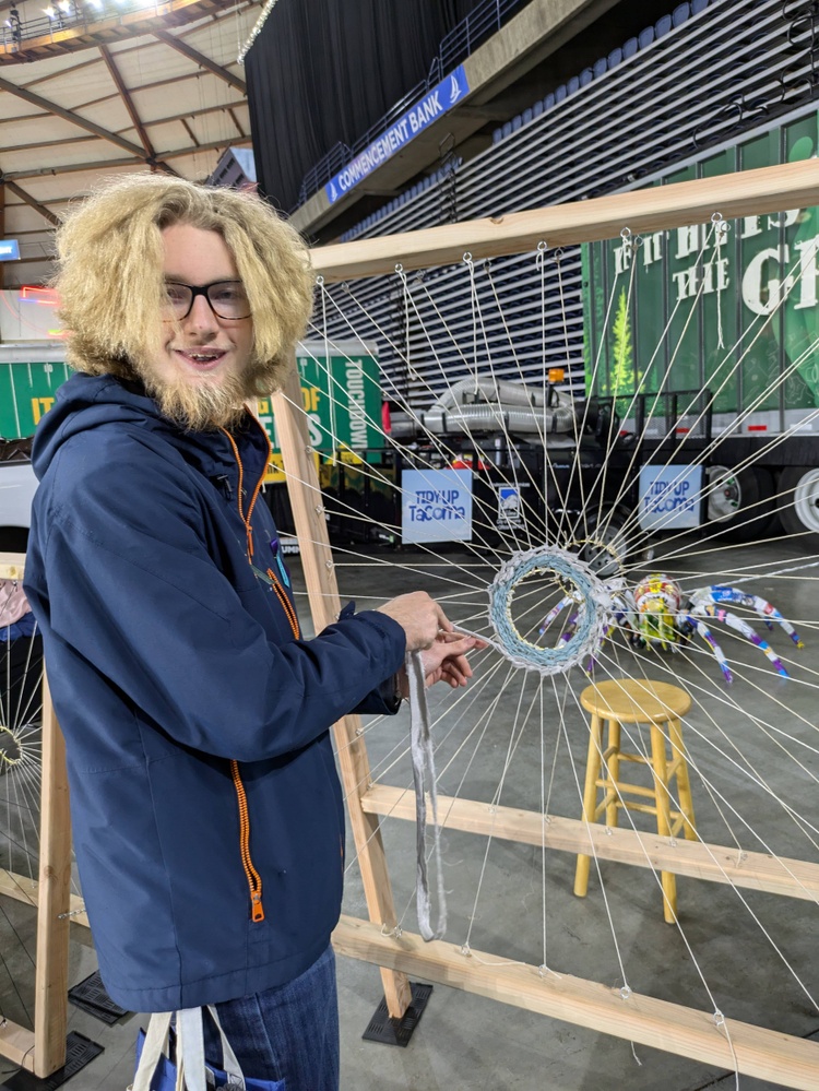
<svg viewBox="0 0 819 1091"><path fill-rule="evenodd" d="M175 739L239 761L307 745L392 677L405 637L384 614L270 641L242 605L257 593L250 567L237 590L207 552L186 471L145 461L136 474L92 470L73 488L76 473L58 474L51 502L35 505L48 521L45 584L35 576L32 588L46 631Z"/></svg>

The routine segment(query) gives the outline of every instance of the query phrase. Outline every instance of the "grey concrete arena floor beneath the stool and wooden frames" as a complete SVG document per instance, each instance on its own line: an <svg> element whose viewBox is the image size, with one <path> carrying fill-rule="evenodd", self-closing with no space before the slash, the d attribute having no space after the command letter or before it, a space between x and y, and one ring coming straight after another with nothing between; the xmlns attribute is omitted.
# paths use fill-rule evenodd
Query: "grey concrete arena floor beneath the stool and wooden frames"
<svg viewBox="0 0 819 1091"><path fill-rule="evenodd" d="M340 568L343 593L355 596L359 608L365 608L372 604L365 593L373 586L383 600L417 586L431 591L449 586L444 579L460 580L466 586L486 581L486 572L470 567L473 558L468 554L444 555L447 567L440 569L432 569L422 554L397 559L406 567L379 567L377 578L372 568ZM726 565L736 571L746 568L762 573L804 565L806 559L812 558L806 558L797 546L776 543L688 557L678 565L680 571L691 573L686 577L686 586L691 588L715 582ZM297 583L298 567L294 566ZM702 574L695 574L698 572ZM685 659L638 659L613 645L603 657L603 669L613 674L645 672L651 677L679 680L695 696L685 728L697 821L704 840L817 862L819 837L800 819L816 823L817 817L817 693L811 671L819 667L819 627L810 619L819 618L819 583L810 571L805 578L759 576L747 582L785 616L808 619L802 626L807 645L802 653L794 650L791 655L793 645L784 635L771 637L773 647L788 660L800 656L792 680L779 678L759 651L723 636L723 630L719 639L737 666L731 689L711 655L701 651ZM460 605L449 607L450 615L467 624L475 609L466 603L484 600L482 593L464 596ZM543 612L542 604L538 609ZM306 607L302 614L306 616ZM619 666L608 660L615 654ZM585 685L582 673L574 672L569 688L561 683L555 690L549 684L543 687L543 696L536 697L533 676L523 678L515 673L507 678L506 666L497 668L496 653L485 653L475 665L476 678L460 702L449 695L431 702L439 743L439 790L491 799L508 764L499 801L502 805L537 809L543 793L549 813L579 817L577 776L582 778L587 733L573 695ZM475 724L478 730L470 734ZM377 722L368 731L371 766L387 783L403 786L412 780L407 759L402 756L407 730L402 711L395 720ZM512 755L507 761L510 738ZM755 778L764 780L770 791L760 790ZM795 817L788 817L775 795L787 801ZM651 819L644 816L637 816L634 822L642 829L651 828ZM759 831L762 842L748 826ZM387 819L383 835L399 915L408 932L416 932L414 828ZM815 902L753 891L745 891L743 901L727 885L680 878L677 929L663 922L657 879L651 870L603 862L606 897L593 866L589 896L580 900L572 894L574 857L549 853L545 865L544 960L539 849L495 839L487 852L485 838L446 829L442 849L448 942L460 948L468 937L474 950L534 965L546 961L553 970L617 987L622 984L621 962L636 993L707 1012L716 1005L726 1017L809 1037L819 1047L819 1011L783 964L786 959L805 988L814 996L819 994L819 912ZM355 865L348 873L344 908L352 915L365 915ZM33 951L34 920L24 906L5 900L2 911L0 944L14 986L0 969L0 1003L9 1018L25 1021L21 1007L24 1004L31 1010L32 964L26 951ZM770 932L782 958L764 938L762 927ZM79 928L73 935L71 984L95 968L87 937ZM364 1042L361 1033L381 998L379 974L373 967L340 958L339 984L345 1091L727 1091L737 1087L735 1075L724 1069L642 1045L632 1048L628 1041L443 985L436 985L407 1048ZM72 1091L127 1087L140 1021L131 1017L108 1028L71 1008L71 1029L98 1042L105 1052L67 1086ZM12 1070L0 1062L0 1074ZM741 1091L764 1091L781 1084L741 1076L738 1087Z"/></svg>

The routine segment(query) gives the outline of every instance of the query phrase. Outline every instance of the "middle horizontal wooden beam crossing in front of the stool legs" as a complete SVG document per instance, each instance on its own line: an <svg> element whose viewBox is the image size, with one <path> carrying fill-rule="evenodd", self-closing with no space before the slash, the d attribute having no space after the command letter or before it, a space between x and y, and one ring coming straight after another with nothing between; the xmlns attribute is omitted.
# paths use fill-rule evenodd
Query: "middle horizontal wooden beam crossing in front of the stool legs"
<svg viewBox="0 0 819 1091"><path fill-rule="evenodd" d="M373 784L361 796L361 807L367 814L415 821L415 793L408 788ZM448 830L585 853L634 867L819 902L819 864L807 861L598 823L586 827L585 822L573 818L549 816L544 823L536 811L492 807L451 796L438 796L438 815L441 826Z"/></svg>

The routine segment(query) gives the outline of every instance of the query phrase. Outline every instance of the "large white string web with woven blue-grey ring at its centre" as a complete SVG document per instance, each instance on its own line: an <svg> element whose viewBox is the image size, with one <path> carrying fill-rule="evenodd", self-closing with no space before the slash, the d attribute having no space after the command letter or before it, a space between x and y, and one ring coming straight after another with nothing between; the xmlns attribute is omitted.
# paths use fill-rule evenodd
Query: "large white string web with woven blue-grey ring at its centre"
<svg viewBox="0 0 819 1091"><path fill-rule="evenodd" d="M646 319L655 346L637 365L629 339L643 310L641 248L661 244L627 228L610 244L626 254L621 269L603 277L604 293L598 284L590 289L586 306L595 308L598 324L593 335L584 319L582 375L571 347L579 250L550 250L545 242L524 258L477 261L466 253L461 266L423 274L399 265L389 283L329 286L319 278L314 324L302 349L322 376L324 396L336 403L336 439L348 398L328 358L355 365L351 343L358 352L376 348L382 373L365 373L364 382L379 388L379 404L383 391L397 411L385 431L380 412L357 408L383 446L378 456L361 461L339 441L332 459L324 459L316 501L330 522L342 600L372 608L424 589L459 628L490 642L471 656L475 677L467 689L429 693L447 942L464 959L492 951L495 967L525 964L545 976L569 973L605 983L626 1003L645 994L709 1012L732 1054L731 1020L760 1022L764 997L775 996L769 1024L795 1036L815 1029L819 1012L810 939L819 923L819 536L809 522L819 484L805 478L809 467L793 467L774 487L769 469L819 410L783 413L778 432L746 444L729 465L720 462L726 439L748 435L755 414L786 404L787 392L804 383L819 342L806 335L778 373L758 381L760 345L778 323L783 327L809 262L803 248L783 270L779 297L740 329L708 290L737 228L715 214L698 229L691 262L699 287ZM589 253L584 261L593 262ZM600 254L597 262L603 265ZM522 275L537 278L541 299L520 335L509 284ZM592 274L584 276L589 287ZM391 322L379 301L384 296L393 304ZM562 335L555 333L556 312ZM675 390L670 377L695 341L708 375ZM531 379L533 358L542 365L537 382ZM563 376L550 378L558 361ZM736 386L744 401L726 408ZM680 529L673 512L662 511L652 525L643 524L634 494L646 462L672 494L689 482L689 495L702 507L701 525ZM471 538L401 545L401 501L411 499L401 469L432 474L464 465L473 471ZM513 518L499 518L501 489L515 497ZM794 518L799 490L807 524ZM378 507L373 496L384 502ZM520 576L526 557L529 569ZM505 566L517 567L520 578L501 612L492 588ZM680 602L663 613L655 597L655 612L641 620L637 591L652 576L662 576ZM593 595L584 590L585 577ZM711 588L739 593L720 598L709 596ZM672 615L672 630L664 630ZM569 654L584 619L597 625L597 635ZM498 651L510 631L531 649L527 662ZM547 653L557 669L544 668ZM605 842L616 839L604 815L586 821L594 833L586 850L591 878L578 899L577 849L561 843L560 823L583 814L590 714L580 697L592 681L613 679L666 683L690 697L681 731L696 817L693 825L680 820L658 853L656 820L644 813L648 793L636 797L622 787L653 787L680 811L679 781L664 787L652 779L651 716L642 709L643 722L622 724L621 750L645 764L622 761L613 786L621 805L618 826L633 832L629 862L616 853L609 858ZM397 934L417 928L414 833L410 822L389 817L410 817L408 725L405 711L365 724L368 783L354 785L356 793L384 784L397 790L380 810ZM662 731L670 746L667 725ZM674 756L672 748L668 760ZM459 807L470 802L483 808L479 831L459 828ZM515 811L530 817L510 832ZM701 846L702 867L685 863L686 839ZM351 845L348 875L356 856ZM670 924L663 920L666 869L677 875ZM738 1066L735 1075L739 1086Z"/></svg>

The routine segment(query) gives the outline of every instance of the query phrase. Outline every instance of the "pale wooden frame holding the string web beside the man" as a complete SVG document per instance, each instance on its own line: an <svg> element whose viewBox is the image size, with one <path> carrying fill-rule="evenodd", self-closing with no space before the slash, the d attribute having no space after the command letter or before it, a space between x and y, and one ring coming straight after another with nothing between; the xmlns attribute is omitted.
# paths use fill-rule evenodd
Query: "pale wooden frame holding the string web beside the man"
<svg viewBox="0 0 819 1091"><path fill-rule="evenodd" d="M389 275L397 263L404 270L458 263L465 251L473 259L517 254L534 251L541 241L557 247L613 238L625 226L637 235L705 222L714 212L729 220L817 204L819 163L810 159L322 247L312 251L312 265L327 282L345 281ZM318 474L300 411L295 361L282 393L273 401L310 606L319 632L337 617L340 600ZM624 996L618 989L562 973L542 976L534 967L511 962L499 965L501 960L496 954L472 952L474 957L470 958L452 944L425 944L406 932L396 937L378 817L414 820L415 798L412 792L370 782L357 718L347 716L337 724L335 738L370 920L343 917L333 942L342 953L382 968L391 1016L400 1017L406 1009L406 974L414 973L784 1087L819 1091L818 1043L736 1020L725 1020L721 1028L713 1012L633 993ZM491 833L534 845L545 843L575 854L594 853L600 858L714 882L729 881L792 898L819 899L819 866L807 862L785 861L786 867L782 867L761 853L739 856L736 850L721 845L676 842L628 829L589 830L579 820L544 819L538 813L508 807L490 809L478 801L439 797L438 804L450 829Z"/></svg>

